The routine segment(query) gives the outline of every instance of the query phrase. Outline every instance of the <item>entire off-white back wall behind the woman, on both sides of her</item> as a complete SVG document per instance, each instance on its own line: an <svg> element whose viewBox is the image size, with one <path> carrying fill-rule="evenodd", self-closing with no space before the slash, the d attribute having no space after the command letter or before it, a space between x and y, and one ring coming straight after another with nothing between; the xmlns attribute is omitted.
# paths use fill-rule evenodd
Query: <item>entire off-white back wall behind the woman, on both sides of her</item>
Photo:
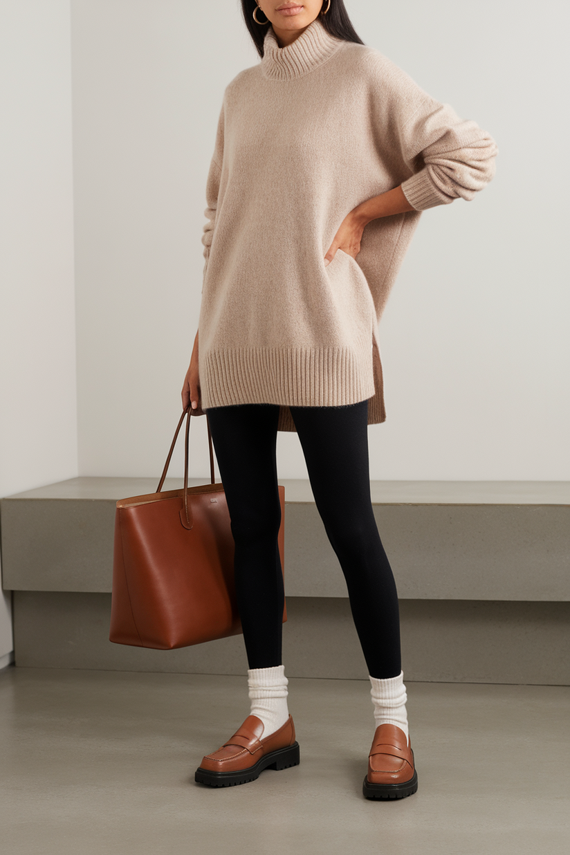
<svg viewBox="0 0 570 855"><path fill-rule="evenodd" d="M478 198L422 215L380 327L371 475L568 479L567 4L347 7L367 44L499 146ZM197 327L222 92L256 53L237 0L72 12L79 467L156 475ZM294 435L279 435L279 473L305 475Z"/></svg>

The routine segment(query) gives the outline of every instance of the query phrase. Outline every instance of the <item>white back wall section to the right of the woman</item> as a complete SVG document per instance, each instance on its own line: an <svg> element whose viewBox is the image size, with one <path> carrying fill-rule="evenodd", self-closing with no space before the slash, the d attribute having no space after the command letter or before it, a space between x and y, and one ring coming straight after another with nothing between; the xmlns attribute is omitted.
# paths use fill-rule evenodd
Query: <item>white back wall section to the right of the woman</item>
<svg viewBox="0 0 570 855"><path fill-rule="evenodd" d="M380 326L379 478L570 478L570 6L350 0L364 40L497 140L472 202L426 211Z"/></svg>

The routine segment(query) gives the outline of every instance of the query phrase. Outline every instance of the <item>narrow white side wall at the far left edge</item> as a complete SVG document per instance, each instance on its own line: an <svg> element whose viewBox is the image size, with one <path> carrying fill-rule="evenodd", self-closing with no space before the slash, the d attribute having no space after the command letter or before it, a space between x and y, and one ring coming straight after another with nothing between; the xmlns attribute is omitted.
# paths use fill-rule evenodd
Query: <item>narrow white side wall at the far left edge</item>
<svg viewBox="0 0 570 855"><path fill-rule="evenodd" d="M70 59L68 0L2 0L1 496L77 475Z"/></svg>

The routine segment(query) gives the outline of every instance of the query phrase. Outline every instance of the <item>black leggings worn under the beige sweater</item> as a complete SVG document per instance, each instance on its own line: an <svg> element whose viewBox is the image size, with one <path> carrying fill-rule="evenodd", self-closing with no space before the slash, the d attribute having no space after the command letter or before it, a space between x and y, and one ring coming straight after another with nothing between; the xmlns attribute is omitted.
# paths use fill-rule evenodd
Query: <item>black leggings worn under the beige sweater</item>
<svg viewBox="0 0 570 855"><path fill-rule="evenodd" d="M326 534L338 556L368 673L399 675L396 583L373 516L367 401L291 407ZM283 577L277 534L276 404L210 407L235 540L238 608L250 668L281 664Z"/></svg>

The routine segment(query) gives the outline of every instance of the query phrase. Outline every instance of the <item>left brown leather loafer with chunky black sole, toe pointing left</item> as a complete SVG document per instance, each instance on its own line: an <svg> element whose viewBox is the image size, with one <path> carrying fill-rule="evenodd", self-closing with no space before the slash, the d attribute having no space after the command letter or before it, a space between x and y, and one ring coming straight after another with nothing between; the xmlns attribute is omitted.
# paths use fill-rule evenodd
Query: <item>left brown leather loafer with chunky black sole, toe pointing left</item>
<svg viewBox="0 0 570 855"><path fill-rule="evenodd" d="M194 780L209 787L234 787L255 781L263 769L289 769L299 764L291 716L274 734L265 739L262 736L263 722L257 716L248 716L221 748L203 758Z"/></svg>

